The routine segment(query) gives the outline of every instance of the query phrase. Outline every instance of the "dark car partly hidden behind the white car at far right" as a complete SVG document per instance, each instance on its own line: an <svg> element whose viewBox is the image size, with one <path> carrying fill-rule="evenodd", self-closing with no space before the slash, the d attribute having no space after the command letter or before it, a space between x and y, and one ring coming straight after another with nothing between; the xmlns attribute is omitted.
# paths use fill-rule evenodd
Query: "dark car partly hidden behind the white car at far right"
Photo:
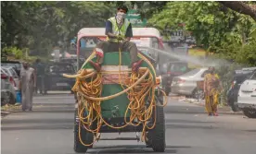
<svg viewBox="0 0 256 154"><path fill-rule="evenodd" d="M237 97L241 84L251 75L251 71L236 70L235 76L231 83L230 89L227 91L227 103L233 112L239 112L237 106Z"/></svg>

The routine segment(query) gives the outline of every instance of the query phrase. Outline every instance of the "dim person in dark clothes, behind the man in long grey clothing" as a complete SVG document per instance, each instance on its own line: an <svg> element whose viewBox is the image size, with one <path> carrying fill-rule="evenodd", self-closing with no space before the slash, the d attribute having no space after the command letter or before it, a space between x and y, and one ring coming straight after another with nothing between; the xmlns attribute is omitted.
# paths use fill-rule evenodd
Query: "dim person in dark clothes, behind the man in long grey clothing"
<svg viewBox="0 0 256 154"><path fill-rule="evenodd" d="M46 89L45 89L45 65L41 62L40 59L36 59L35 62L35 72L36 72L36 79L37 79L37 84L36 84L36 93L37 89L40 90L40 94L46 94Z"/></svg>

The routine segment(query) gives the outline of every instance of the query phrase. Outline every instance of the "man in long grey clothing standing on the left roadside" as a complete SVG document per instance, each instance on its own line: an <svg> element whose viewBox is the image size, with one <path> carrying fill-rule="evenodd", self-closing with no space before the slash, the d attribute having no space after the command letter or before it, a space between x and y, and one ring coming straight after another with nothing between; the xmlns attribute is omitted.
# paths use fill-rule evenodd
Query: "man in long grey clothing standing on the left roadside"
<svg viewBox="0 0 256 154"><path fill-rule="evenodd" d="M22 111L32 111L32 94L36 87L36 75L34 69L27 62L23 63L23 69L20 71L19 87L22 95Z"/></svg>

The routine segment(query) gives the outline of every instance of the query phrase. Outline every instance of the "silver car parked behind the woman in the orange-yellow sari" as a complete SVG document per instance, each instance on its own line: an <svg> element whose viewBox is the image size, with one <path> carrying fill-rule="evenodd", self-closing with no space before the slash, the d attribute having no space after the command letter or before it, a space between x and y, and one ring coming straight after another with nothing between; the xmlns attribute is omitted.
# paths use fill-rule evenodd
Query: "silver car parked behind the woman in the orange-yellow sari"
<svg viewBox="0 0 256 154"><path fill-rule="evenodd" d="M172 93L195 96L197 93L197 82L204 80L207 71L208 67L202 67L193 69L182 76L173 77Z"/></svg>

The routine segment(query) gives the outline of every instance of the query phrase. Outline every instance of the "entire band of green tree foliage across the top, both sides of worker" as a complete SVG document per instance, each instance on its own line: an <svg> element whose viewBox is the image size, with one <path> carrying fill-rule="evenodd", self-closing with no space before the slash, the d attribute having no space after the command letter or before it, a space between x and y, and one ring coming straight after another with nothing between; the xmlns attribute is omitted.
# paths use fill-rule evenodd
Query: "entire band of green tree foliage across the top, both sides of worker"
<svg viewBox="0 0 256 154"><path fill-rule="evenodd" d="M160 30L177 30L186 23L198 44L226 59L253 65L256 23L218 2L39 2L1 3L1 45L29 48L47 57L54 46L66 49L84 27L104 27L116 6L137 6L142 18ZM2 50L3 51L3 50Z"/></svg>

